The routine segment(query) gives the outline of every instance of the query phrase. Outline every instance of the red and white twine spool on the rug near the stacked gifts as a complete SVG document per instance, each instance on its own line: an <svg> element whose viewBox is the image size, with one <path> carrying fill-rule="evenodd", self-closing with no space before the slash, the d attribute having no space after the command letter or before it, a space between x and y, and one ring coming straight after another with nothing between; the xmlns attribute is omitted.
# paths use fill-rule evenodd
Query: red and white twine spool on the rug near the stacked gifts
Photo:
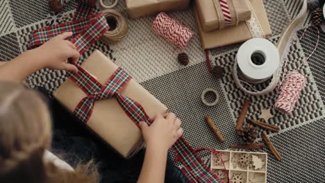
<svg viewBox="0 0 325 183"><path fill-rule="evenodd" d="M172 19L165 12L160 12L152 24L152 30L180 49L185 49L193 36L193 31Z"/></svg>

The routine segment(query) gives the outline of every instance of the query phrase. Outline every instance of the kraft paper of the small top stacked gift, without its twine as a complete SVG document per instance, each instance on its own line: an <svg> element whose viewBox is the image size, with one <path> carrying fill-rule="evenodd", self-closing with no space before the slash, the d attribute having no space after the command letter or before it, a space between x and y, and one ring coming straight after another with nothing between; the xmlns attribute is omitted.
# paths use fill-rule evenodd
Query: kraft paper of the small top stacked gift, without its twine
<svg viewBox="0 0 325 183"><path fill-rule="evenodd" d="M220 8L219 12L217 12L215 3L213 1L215 0L195 0L195 6L197 6L197 13L199 15L201 26L204 32L224 28L220 27L219 25L219 21L224 22L222 10ZM249 20L251 18L251 10L249 10L249 6L247 5L246 1L228 0L228 2L229 8L232 12L231 15L233 15L232 17L235 21L235 25L238 25L238 23Z"/></svg>

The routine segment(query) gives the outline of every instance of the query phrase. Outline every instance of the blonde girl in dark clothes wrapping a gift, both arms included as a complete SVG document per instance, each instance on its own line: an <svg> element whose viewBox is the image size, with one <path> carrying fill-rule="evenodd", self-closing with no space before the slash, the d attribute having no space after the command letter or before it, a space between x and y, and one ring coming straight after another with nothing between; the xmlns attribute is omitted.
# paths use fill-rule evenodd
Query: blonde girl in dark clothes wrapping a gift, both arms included
<svg viewBox="0 0 325 183"><path fill-rule="evenodd" d="M171 164L167 164L165 177L167 151L183 134L181 121L175 114L157 115L150 127L140 123L147 148L142 170L137 175L138 171L130 169L130 166L138 166L137 162L123 159L119 160L120 167L112 168L110 160L121 159L116 153L72 123L76 118L59 104L49 107L38 92L18 84L44 67L77 72L77 68L67 62L69 59L76 63L80 56L74 44L67 40L70 36L72 33L58 35L0 67L0 182L187 182L181 171ZM56 103L49 100L48 104ZM47 150L51 147L52 121L55 129L62 130L66 123L73 126L63 128L71 137L53 138L57 147L65 146L61 151L69 151L61 153L83 155L83 158L67 164ZM60 138L65 139L58 140ZM90 143L87 146L83 146L86 143L68 143L71 139ZM74 146L77 148L72 150ZM88 157L87 152L91 152ZM141 155L138 155L140 159ZM119 176L122 171L121 175L127 175Z"/></svg>

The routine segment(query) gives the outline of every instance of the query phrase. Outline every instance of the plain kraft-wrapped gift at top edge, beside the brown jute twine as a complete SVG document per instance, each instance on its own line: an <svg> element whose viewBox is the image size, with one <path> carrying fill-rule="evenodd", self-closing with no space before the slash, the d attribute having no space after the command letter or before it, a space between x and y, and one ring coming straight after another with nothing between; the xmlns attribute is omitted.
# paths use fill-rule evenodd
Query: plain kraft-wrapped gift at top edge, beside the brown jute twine
<svg viewBox="0 0 325 183"><path fill-rule="evenodd" d="M126 11L133 19L156 12L186 10L189 6L190 0L126 0Z"/></svg>

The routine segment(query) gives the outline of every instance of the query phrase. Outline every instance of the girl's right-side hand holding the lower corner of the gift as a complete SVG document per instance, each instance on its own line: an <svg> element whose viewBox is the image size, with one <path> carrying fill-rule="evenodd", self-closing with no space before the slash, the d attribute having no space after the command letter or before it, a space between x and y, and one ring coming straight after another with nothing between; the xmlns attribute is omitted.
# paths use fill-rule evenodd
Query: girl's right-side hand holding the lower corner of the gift
<svg viewBox="0 0 325 183"><path fill-rule="evenodd" d="M157 115L150 126L140 122L140 128L147 147L166 152L183 135L181 120L174 113Z"/></svg>

